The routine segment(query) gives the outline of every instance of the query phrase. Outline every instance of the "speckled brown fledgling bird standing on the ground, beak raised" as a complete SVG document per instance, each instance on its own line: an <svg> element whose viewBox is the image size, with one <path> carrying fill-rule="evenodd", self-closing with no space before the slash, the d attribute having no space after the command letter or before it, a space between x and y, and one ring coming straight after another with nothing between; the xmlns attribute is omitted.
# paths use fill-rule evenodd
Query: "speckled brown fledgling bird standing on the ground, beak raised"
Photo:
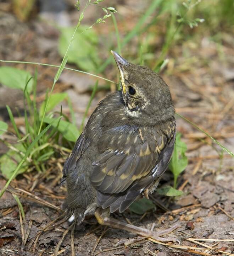
<svg viewBox="0 0 234 256"><path fill-rule="evenodd" d="M62 170L66 182L66 214L81 224L98 223L159 241L180 225L162 231L121 222L122 213L141 197L149 198L172 157L176 120L168 85L146 66L128 62L111 51L120 75L120 89L101 100L91 114Z"/></svg>

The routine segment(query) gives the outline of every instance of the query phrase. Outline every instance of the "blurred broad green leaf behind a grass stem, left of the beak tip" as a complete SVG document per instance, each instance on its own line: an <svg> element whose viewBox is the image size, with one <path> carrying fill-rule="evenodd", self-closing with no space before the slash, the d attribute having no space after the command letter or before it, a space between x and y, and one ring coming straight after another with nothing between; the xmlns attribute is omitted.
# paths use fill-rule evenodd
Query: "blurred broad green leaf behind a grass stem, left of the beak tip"
<svg viewBox="0 0 234 256"><path fill-rule="evenodd" d="M98 56L98 36L94 30L87 30L88 27L80 26L74 36L69 51L67 61L75 63L85 71L96 71L101 64ZM63 57L66 53L68 44L74 33L74 27L60 28L59 54ZM83 33L84 32L84 33Z"/></svg>

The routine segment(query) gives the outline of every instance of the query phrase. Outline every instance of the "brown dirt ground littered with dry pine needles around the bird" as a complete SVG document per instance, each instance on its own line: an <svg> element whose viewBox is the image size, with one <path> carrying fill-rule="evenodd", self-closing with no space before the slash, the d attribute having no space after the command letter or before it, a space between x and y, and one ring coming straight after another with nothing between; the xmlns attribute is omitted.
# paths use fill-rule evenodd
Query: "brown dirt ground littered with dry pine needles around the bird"
<svg viewBox="0 0 234 256"><path fill-rule="evenodd" d="M87 22L89 22L88 18ZM9 12L0 12L0 24L0 40L4 42L0 44L0 59L60 63L61 59L56 50L58 32L55 28L37 20L20 23ZM107 22L106 26L111 26L110 24ZM171 61L167 72L161 74L171 88L177 113L198 124L232 151L234 151L234 71L231 68L234 63L233 46L233 41L228 34L225 34L221 49L225 56L224 60L220 57L220 49L217 49L216 43L209 41L205 36L201 41L184 42L175 46L169 53ZM192 64L182 53L186 51L189 52L190 58L193 58ZM176 64L174 59L177 60ZM24 64L15 66L27 68L32 73L35 68ZM38 71L38 102L40 102L45 97L45 89L51 86L56 70L39 67ZM68 80L71 77L68 73L64 71L55 91L67 91L71 96L79 125L90 96L87 84L94 83L95 79L73 73L74 78ZM106 77L115 79L116 69L108 70ZM18 91L13 89L9 91L4 87L0 87L0 92L1 119L6 120L5 104L9 104L12 108L22 107L22 95ZM106 91L98 92L89 114L106 93ZM66 103L63 109L65 113L69 112ZM17 119L17 124L23 125L20 118ZM143 217L130 211L114 215L120 220L135 222L146 228L150 228L153 223L156 224L156 228L168 228L173 223L180 223L181 228L173 233L181 240L181 244L186 246L195 246L193 242L186 240L188 238L233 239L233 158L225 152L223 158L220 158L217 153L220 149L183 119L177 119L177 126L188 145L186 155L189 165L179 177L179 187L183 190L184 196L173 200L154 193L152 195L152 200L156 204L154 211L147 212ZM5 150L1 146L0 153ZM65 157L59 159L56 165L53 164L54 168L48 170L46 174L37 175L32 172L18 177L0 199L0 255L54 255L55 246L68 228L67 222L61 222L59 219L57 225L50 226L47 231L41 232L40 236L38 234L62 214L66 189L60 187L59 183ZM172 181L173 176L168 171L163 176L161 185L172 185ZM1 179L0 188L4 184L5 180ZM17 190L19 188L23 191ZM15 191L20 196L26 213L24 223L20 221L17 204L10 191ZM26 192L30 194L27 195ZM22 245L22 229L24 237L29 232L25 245ZM133 237L134 235L123 230L105 229L92 218L74 231L75 255L192 255L191 251L172 249L147 239L130 246L115 248L118 241ZM35 240L36 238L38 239ZM218 250L225 251L226 255L234 253L233 241L201 242L216 246ZM62 241L59 252L61 255L72 255L70 231ZM202 252L208 255L221 255L209 249Z"/></svg>

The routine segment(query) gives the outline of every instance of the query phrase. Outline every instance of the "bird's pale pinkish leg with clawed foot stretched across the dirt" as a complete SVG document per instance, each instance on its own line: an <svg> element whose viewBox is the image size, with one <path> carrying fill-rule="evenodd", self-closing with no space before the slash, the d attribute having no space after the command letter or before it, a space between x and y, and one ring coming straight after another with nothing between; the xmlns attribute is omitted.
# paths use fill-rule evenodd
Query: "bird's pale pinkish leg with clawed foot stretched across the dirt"
<svg viewBox="0 0 234 256"><path fill-rule="evenodd" d="M113 228L118 228L118 229L123 229L129 232L132 232L134 234L138 234L147 238L153 238L161 242L178 242L179 240L174 237L168 237L168 238L162 238L161 236L166 235L171 233L173 230L177 229L180 227L179 224L175 224L171 226L171 228L161 230L161 231L153 231L145 228L141 228L138 226L130 225L128 223L120 222L116 219L107 217L107 218L102 218L101 215L98 213L98 211L95 212L95 217L98 220L98 223L101 225L107 225L107 226L112 226Z"/></svg>

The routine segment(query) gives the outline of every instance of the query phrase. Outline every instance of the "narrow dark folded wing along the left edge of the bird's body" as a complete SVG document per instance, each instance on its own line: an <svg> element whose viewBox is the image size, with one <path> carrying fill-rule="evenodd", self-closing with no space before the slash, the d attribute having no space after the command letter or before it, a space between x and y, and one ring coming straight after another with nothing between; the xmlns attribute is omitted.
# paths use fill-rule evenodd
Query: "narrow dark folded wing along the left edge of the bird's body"
<svg viewBox="0 0 234 256"><path fill-rule="evenodd" d="M69 171L73 171L76 168L77 162L80 158L80 156L84 153L84 151L88 148L89 141L85 138L84 133L80 135L78 138L72 153L68 156L66 159L63 169L62 169L62 181L61 184L65 182L66 176L68 175Z"/></svg>

